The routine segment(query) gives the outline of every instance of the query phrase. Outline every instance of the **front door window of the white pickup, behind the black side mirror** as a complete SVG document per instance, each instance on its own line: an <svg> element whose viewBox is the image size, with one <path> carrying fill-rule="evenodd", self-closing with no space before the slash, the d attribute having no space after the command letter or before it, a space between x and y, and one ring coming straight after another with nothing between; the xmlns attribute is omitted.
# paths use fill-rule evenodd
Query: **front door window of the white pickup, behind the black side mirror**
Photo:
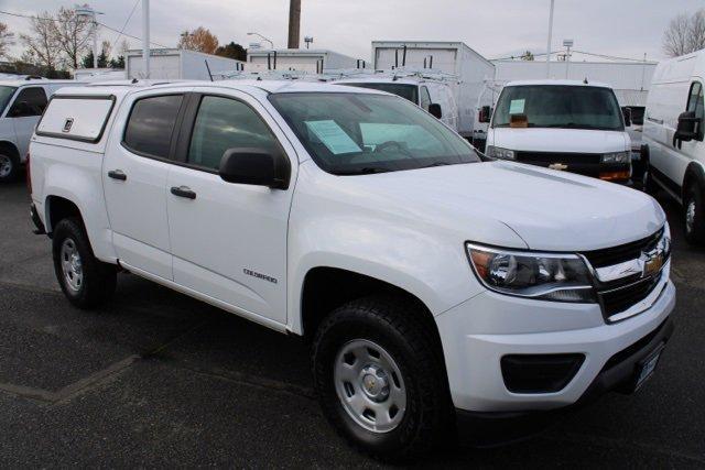
<svg viewBox="0 0 705 470"><path fill-rule="evenodd" d="M203 97L187 162L206 170L218 170L225 151L234 147L257 147L274 153L279 144L262 118L248 105L231 98Z"/></svg>

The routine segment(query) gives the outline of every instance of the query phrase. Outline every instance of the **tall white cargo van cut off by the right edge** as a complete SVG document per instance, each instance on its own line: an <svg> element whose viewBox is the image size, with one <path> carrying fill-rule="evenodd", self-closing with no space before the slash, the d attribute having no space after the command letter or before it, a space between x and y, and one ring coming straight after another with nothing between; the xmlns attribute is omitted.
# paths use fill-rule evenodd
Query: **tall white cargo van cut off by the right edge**
<svg viewBox="0 0 705 470"><path fill-rule="evenodd" d="M664 188L682 203L685 238L705 242L705 50L657 66L647 99L644 187Z"/></svg>

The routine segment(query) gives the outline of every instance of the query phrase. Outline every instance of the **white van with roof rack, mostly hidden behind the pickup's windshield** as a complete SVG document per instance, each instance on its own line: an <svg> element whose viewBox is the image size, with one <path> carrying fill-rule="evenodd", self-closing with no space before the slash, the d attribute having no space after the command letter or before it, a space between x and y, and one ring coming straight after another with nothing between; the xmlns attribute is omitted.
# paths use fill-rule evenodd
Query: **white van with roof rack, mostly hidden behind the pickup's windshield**
<svg viewBox="0 0 705 470"><path fill-rule="evenodd" d="M336 85L387 91L408 99L438 118L454 131L459 131L458 105L447 80L434 79L422 73L391 73L344 78Z"/></svg>

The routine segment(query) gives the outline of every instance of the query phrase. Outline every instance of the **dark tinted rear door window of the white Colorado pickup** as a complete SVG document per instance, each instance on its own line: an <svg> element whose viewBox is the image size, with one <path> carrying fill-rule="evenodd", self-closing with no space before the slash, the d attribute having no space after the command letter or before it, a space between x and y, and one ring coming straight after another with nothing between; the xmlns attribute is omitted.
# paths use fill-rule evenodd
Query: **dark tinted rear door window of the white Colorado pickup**
<svg viewBox="0 0 705 470"><path fill-rule="evenodd" d="M183 99L183 95L164 95L137 100L124 130L124 145L145 156L169 159Z"/></svg>

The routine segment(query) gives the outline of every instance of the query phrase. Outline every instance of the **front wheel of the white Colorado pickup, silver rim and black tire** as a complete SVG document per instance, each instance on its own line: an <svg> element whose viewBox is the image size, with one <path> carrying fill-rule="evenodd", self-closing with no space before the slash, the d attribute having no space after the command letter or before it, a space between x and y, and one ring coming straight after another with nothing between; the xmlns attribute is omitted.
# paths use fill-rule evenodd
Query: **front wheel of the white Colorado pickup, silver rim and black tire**
<svg viewBox="0 0 705 470"><path fill-rule="evenodd" d="M372 457L408 461L452 426L447 378L420 306L370 297L333 311L314 342L314 384L327 419Z"/></svg>

